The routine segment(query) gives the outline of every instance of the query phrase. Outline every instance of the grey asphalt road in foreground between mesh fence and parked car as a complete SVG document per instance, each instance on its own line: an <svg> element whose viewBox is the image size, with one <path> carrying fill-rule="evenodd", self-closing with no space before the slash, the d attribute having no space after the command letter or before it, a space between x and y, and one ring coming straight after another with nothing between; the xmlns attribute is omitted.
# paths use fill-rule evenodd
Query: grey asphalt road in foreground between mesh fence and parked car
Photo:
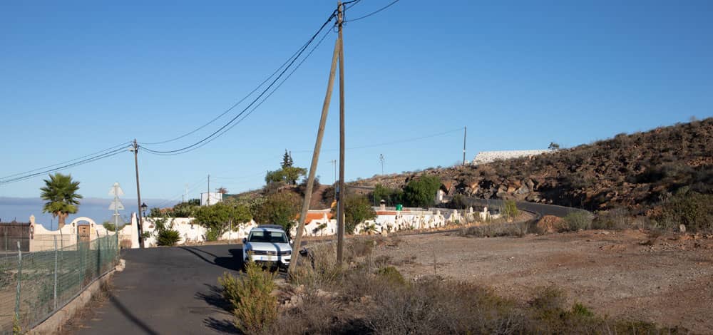
<svg viewBox="0 0 713 335"><path fill-rule="evenodd" d="M242 245L128 249L110 298L76 334L225 334L217 278L242 267Z"/></svg>

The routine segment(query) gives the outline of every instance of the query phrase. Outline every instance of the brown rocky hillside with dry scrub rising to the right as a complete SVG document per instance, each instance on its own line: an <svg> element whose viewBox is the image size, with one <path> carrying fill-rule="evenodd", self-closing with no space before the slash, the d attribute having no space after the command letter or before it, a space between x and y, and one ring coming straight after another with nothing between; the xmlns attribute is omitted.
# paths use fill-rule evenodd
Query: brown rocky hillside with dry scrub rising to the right
<svg viewBox="0 0 713 335"><path fill-rule="evenodd" d="M376 176L352 185L403 187L438 175L450 195L528 200L606 210L648 207L680 187L713 193L713 118L619 134L530 158Z"/></svg>

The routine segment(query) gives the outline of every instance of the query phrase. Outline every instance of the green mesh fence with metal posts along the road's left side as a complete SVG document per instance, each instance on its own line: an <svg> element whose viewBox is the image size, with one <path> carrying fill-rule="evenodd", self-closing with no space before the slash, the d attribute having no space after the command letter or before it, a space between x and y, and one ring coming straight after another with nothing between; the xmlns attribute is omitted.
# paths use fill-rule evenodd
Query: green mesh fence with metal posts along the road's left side
<svg viewBox="0 0 713 335"><path fill-rule="evenodd" d="M118 259L116 235L96 237L41 252L0 254L0 334L32 327L61 309Z"/></svg>

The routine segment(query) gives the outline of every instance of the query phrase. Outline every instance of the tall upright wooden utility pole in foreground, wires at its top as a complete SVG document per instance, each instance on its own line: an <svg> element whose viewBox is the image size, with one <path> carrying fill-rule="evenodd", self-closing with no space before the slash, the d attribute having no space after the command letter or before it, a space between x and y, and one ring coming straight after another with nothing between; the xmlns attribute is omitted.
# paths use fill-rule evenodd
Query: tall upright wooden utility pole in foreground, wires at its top
<svg viewBox="0 0 713 335"><path fill-rule="evenodd" d="M337 202L337 264L342 264L344 259L344 38L342 26L344 24L344 5L337 2L337 26L339 28L339 202Z"/></svg>

